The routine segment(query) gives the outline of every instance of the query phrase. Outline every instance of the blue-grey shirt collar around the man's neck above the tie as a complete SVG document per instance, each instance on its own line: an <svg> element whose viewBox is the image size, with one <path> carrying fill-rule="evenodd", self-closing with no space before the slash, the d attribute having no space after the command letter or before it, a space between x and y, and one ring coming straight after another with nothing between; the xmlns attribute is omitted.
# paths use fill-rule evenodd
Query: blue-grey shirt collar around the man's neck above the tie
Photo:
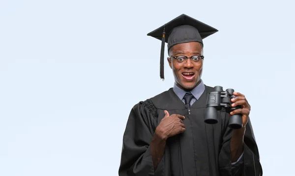
<svg viewBox="0 0 295 176"><path fill-rule="evenodd" d="M186 91L180 89L176 85L176 83L174 83L173 91L175 92L177 97L179 97L180 100L182 100L184 95L187 93ZM199 98L201 97L201 95L203 94L204 91L205 91L205 85L204 85L203 80L201 79L201 83L198 86L196 86L192 91L190 91L190 93L193 94L193 96L197 100L199 100Z"/></svg>

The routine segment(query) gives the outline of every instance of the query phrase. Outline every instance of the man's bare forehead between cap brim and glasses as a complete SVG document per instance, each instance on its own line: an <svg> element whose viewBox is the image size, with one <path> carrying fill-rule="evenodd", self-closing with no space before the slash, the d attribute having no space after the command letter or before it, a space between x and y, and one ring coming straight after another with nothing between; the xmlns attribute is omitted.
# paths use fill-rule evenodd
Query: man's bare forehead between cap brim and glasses
<svg viewBox="0 0 295 176"><path fill-rule="evenodd" d="M199 42L187 42L187 43L180 43L177 45L174 45L171 48L171 51L173 53L192 53L192 52L199 52L201 53L203 51L202 44Z"/></svg>

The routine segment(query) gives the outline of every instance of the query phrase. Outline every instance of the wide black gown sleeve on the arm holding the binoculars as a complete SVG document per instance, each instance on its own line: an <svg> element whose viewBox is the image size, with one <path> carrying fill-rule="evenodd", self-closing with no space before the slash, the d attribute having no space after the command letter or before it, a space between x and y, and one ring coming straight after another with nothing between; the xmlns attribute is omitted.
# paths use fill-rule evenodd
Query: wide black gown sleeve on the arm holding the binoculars
<svg viewBox="0 0 295 176"><path fill-rule="evenodd" d="M243 154L236 164L231 163L231 139L233 129L228 127L229 114L226 113L223 120L223 141L219 153L219 172L221 176L262 176L262 166L260 163L260 156L258 146L255 141L253 128L250 118L246 125L244 135Z"/></svg>

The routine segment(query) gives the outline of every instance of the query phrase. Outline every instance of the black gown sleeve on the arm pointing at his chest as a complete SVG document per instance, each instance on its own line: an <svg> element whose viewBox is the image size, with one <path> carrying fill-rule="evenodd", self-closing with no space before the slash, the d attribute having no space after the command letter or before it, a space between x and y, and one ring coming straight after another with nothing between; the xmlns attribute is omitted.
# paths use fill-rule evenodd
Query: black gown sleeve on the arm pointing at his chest
<svg viewBox="0 0 295 176"><path fill-rule="evenodd" d="M163 176L164 157L154 170L149 148L157 125L155 112L147 101L131 109L123 135L119 176Z"/></svg>

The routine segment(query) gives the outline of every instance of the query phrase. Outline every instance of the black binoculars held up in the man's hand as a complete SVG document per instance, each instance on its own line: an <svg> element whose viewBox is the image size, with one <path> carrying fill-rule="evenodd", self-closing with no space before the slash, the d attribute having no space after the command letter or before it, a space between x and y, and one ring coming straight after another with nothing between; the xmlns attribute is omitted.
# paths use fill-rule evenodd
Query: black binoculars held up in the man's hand
<svg viewBox="0 0 295 176"><path fill-rule="evenodd" d="M241 106L232 107L231 99L236 97L234 89L226 89L223 91L221 86L215 86L214 91L210 92L207 97L206 115L204 122L207 124L218 123L217 110L225 109L227 113L242 108ZM239 129L242 127L242 114L231 115L229 120L229 128Z"/></svg>

